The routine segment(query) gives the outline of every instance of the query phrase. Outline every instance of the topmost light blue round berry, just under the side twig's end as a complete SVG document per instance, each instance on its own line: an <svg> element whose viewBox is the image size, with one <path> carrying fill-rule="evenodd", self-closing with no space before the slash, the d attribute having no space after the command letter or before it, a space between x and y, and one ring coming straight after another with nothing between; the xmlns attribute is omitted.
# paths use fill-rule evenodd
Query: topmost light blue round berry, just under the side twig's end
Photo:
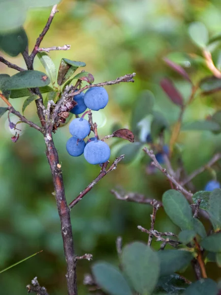
<svg viewBox="0 0 221 295"><path fill-rule="evenodd" d="M92 87L86 91L84 102L89 109L98 111L106 107L108 93L103 87Z"/></svg>

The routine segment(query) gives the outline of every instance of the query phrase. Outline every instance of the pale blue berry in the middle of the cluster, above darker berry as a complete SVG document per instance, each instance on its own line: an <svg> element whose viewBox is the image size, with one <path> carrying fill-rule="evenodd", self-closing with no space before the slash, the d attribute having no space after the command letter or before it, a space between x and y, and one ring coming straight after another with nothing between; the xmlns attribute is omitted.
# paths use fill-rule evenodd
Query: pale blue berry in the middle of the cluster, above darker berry
<svg viewBox="0 0 221 295"><path fill-rule="evenodd" d="M83 139L91 132L91 126L86 119L76 118L70 122L69 131L74 137Z"/></svg>

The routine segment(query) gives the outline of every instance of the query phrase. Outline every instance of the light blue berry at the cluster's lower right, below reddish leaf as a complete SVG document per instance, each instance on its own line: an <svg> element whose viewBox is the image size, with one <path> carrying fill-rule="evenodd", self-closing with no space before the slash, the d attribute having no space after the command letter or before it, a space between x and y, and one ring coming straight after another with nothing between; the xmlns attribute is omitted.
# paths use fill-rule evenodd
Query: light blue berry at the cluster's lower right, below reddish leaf
<svg viewBox="0 0 221 295"><path fill-rule="evenodd" d="M110 158L110 148L105 142L95 139L86 145L84 157L90 164L102 164Z"/></svg>

